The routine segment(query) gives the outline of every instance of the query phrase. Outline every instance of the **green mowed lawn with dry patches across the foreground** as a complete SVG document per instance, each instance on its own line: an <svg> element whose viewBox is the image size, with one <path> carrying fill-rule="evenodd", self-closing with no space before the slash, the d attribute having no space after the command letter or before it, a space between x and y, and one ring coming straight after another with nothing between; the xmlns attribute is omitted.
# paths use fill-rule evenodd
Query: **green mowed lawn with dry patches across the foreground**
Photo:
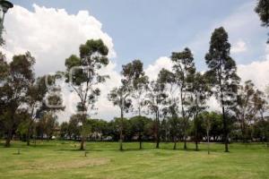
<svg viewBox="0 0 269 179"><path fill-rule="evenodd" d="M212 144L207 155L206 144L200 151L188 143L188 150L173 150L172 143L125 143L118 151L116 142L88 142L87 157L74 141L38 141L37 146L13 142L12 148L0 146L0 178L93 178L93 179L265 179L269 178L269 149L265 144L231 144L230 153L223 145ZM21 154L17 155L18 148Z"/></svg>

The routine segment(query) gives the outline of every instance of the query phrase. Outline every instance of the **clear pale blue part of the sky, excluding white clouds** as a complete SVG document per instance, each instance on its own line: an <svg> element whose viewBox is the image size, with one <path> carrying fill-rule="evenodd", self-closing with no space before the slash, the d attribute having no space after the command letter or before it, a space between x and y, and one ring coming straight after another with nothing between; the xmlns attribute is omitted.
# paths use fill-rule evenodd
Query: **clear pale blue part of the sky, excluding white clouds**
<svg viewBox="0 0 269 179"><path fill-rule="evenodd" d="M113 38L117 70L121 64L136 58L145 65L152 64L160 56L169 56L172 51L187 46L193 49L198 68L204 70L204 54L213 28L240 9L242 13L256 16L255 0L13 0L13 4L30 11L33 11L32 4L64 8L74 14L89 11L102 23L102 30ZM246 8L248 12L242 9L246 4L251 4ZM246 29L242 29L241 34L230 32L233 43L243 40L247 44L244 53L233 55L238 64L262 60L265 55L266 30L259 23L257 19L254 27L249 27L254 30L245 36Z"/></svg>

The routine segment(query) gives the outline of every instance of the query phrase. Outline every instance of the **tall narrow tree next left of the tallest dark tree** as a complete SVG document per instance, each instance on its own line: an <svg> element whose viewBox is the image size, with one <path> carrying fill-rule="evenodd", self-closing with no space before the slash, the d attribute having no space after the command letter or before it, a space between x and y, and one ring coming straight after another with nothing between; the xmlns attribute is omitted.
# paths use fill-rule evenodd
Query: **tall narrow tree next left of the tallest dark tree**
<svg viewBox="0 0 269 179"><path fill-rule="evenodd" d="M187 114L187 94L188 83L192 81L195 75L195 63L194 57L190 49L185 48L182 52L173 52L171 55L171 61L173 63L173 73L179 90L179 100L181 107L181 115L183 119L183 131L184 131L184 149L187 149L187 128L189 124L189 115Z"/></svg>

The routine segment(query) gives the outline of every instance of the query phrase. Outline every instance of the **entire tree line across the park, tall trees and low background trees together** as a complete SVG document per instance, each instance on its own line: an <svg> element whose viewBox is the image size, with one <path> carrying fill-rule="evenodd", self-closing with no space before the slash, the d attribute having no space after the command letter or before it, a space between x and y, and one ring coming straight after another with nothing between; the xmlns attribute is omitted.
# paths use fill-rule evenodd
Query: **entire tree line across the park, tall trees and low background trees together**
<svg viewBox="0 0 269 179"><path fill-rule="evenodd" d="M264 117L268 109L266 95L256 89L252 81L240 84L236 63L230 57L228 34L223 28L213 32L205 55L207 72L196 71L188 48L172 53L172 69L162 69L153 81L145 75L140 60L123 65L122 85L108 94L108 100L119 108L120 117L110 123L95 123L89 120L88 114L96 110L95 103L100 96L98 84L108 79L108 75L100 75L100 69L108 64L107 55L108 47L100 39L88 40L80 47L80 56L71 55L65 60L66 72L62 73L80 101L77 115L61 127L56 123L56 112L65 110L59 95L61 89L56 86L60 75L36 79L32 69L35 60L30 53L15 55L11 63L1 55L0 127L6 137L5 146L10 145L14 133L20 133L30 145L30 138L46 136L49 139L54 131L60 131L62 137L80 139L81 149L93 132L118 139L120 149L124 140L130 141L135 136L140 141L156 141L156 148L164 140L174 141L175 149L178 141L184 141L187 149L188 139L194 139L197 144L202 139L210 140L208 136L213 135L215 141L225 143L228 151L230 132L239 130L238 139L246 142L255 137L257 127L261 141L268 141L268 121ZM208 100L213 97L221 105L221 117L206 112ZM129 112L138 115L126 120ZM221 120L221 124L214 124L212 120ZM70 130L72 132L68 132ZM206 132L207 138L204 138Z"/></svg>

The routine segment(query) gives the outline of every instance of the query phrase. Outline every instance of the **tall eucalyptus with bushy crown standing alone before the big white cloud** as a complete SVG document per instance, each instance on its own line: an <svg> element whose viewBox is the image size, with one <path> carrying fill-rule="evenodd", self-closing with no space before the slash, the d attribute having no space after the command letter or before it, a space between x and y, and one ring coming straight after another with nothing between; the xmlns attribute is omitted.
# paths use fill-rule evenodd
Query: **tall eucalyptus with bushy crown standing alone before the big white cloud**
<svg viewBox="0 0 269 179"><path fill-rule="evenodd" d="M91 39L81 45L79 51L80 56L71 55L65 60L65 66L66 81L79 98L77 111L84 126L89 112L96 110L95 103L100 96L97 85L108 78L100 74L100 69L108 64L108 47L101 39ZM84 149L84 141L85 136L82 136L81 149Z"/></svg>

